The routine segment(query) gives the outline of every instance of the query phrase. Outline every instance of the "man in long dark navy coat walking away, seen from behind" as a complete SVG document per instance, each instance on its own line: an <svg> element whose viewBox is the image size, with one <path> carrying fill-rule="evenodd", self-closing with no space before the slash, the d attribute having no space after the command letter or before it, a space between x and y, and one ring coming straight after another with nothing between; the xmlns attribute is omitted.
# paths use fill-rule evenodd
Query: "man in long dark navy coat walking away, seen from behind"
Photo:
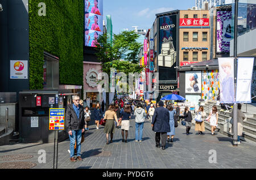
<svg viewBox="0 0 256 180"><path fill-rule="evenodd" d="M170 114L167 108L163 107L163 101L159 102L159 108L155 109L151 126L155 134L156 147L160 148L160 134L162 136L162 149L166 147L167 132L170 132Z"/></svg>

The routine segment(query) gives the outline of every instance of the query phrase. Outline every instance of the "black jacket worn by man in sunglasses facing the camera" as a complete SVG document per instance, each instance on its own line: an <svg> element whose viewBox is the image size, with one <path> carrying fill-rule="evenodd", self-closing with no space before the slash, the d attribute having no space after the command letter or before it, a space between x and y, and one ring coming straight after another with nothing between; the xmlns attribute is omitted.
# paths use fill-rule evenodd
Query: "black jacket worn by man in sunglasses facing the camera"
<svg viewBox="0 0 256 180"><path fill-rule="evenodd" d="M65 121L66 121L66 127L67 131L70 130L81 130L84 128L85 125L85 119L84 119L84 108L80 106L80 112L79 112L79 118L77 119L77 115L75 112L75 109L73 108L73 104L68 105Z"/></svg>

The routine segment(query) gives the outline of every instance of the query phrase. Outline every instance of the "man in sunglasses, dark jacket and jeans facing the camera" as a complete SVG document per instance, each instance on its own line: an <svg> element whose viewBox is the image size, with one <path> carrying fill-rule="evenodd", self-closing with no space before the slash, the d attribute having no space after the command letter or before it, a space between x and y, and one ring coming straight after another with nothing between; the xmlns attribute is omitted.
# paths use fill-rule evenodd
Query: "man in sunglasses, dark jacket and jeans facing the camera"
<svg viewBox="0 0 256 180"><path fill-rule="evenodd" d="M73 104L68 106L65 121L70 139L70 160L76 162L75 158L75 142L77 149L77 159L82 161L81 158L81 138L84 132L85 119L84 108L79 104L80 97L73 96Z"/></svg>

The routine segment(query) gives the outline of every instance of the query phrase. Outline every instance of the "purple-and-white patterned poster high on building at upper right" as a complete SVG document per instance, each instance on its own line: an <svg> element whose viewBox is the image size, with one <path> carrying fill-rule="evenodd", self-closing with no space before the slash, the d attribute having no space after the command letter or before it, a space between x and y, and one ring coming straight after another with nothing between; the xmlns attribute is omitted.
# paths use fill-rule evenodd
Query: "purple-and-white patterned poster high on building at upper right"
<svg viewBox="0 0 256 180"><path fill-rule="evenodd" d="M217 53L229 53L232 11L217 11Z"/></svg>

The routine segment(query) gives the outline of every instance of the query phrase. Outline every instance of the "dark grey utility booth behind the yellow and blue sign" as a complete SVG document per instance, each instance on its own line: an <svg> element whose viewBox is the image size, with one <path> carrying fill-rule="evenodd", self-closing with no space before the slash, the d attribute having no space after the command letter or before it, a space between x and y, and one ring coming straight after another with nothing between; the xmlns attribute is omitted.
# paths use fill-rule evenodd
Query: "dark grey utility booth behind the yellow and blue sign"
<svg viewBox="0 0 256 180"><path fill-rule="evenodd" d="M49 130L49 108L65 108L68 101L61 101L59 91L39 90L19 92L19 140L22 143L53 143L54 131ZM64 97L65 98L65 97ZM69 102L70 102L69 97ZM67 98L66 98L67 99ZM59 130L59 141L68 138L66 128ZM57 137L56 137L57 138Z"/></svg>

